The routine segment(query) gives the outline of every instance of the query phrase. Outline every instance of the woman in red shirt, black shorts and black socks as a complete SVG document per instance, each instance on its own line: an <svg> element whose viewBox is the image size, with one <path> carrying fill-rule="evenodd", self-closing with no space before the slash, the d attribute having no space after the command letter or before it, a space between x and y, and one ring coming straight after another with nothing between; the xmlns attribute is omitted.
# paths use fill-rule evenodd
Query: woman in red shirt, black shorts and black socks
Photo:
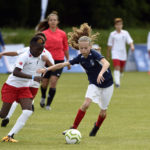
<svg viewBox="0 0 150 150"><path fill-rule="evenodd" d="M58 14L56 11L50 13L46 20L40 22L36 28L37 31L42 31L47 40L45 43L45 48L52 54L52 57L55 61L55 64L64 62L64 57L66 60L69 60L68 52L68 40L66 33L58 28ZM70 69L70 66L68 67ZM41 83L41 101L40 106L45 106L46 91L48 85L50 89L48 92L46 109L50 110L50 105L56 93L56 85L59 77L61 76L63 69L56 70L54 72L49 71L44 75L44 78Z"/></svg>

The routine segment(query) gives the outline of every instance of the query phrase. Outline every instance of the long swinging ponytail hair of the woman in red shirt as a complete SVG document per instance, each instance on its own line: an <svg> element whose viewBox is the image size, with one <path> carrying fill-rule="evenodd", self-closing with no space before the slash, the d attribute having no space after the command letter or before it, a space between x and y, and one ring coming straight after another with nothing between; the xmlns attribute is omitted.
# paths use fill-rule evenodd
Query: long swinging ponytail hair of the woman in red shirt
<svg viewBox="0 0 150 150"><path fill-rule="evenodd" d="M57 16L57 19L58 19L58 13L57 11L52 11L46 19L44 19L43 21L41 21L37 26L36 26L36 32L42 32L46 29L49 28L49 24L48 24L48 21L50 19L51 16Z"/></svg>

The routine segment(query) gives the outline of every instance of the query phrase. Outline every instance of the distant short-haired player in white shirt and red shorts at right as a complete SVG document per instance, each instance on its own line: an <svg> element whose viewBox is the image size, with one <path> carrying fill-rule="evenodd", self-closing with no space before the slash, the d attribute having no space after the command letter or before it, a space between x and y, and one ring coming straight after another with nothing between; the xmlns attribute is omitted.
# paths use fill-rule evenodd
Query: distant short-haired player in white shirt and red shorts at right
<svg viewBox="0 0 150 150"><path fill-rule="evenodd" d="M114 66L115 86L120 87L120 74L123 73L127 59L126 43L134 51L133 40L128 31L123 30L123 20L116 18L114 20L115 31L111 32L108 38L107 59L110 58L110 51Z"/></svg>

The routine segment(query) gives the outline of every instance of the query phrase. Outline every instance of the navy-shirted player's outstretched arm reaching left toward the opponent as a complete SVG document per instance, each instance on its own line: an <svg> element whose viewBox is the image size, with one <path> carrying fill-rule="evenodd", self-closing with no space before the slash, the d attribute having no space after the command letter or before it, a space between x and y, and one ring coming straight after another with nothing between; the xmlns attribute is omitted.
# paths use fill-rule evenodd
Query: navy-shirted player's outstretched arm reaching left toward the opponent
<svg viewBox="0 0 150 150"><path fill-rule="evenodd" d="M53 65L51 67L48 67L48 68L38 69L37 73L46 73L47 71L58 70L58 69L61 69L65 66L69 66L69 65L70 65L69 62L59 63L59 64Z"/></svg>

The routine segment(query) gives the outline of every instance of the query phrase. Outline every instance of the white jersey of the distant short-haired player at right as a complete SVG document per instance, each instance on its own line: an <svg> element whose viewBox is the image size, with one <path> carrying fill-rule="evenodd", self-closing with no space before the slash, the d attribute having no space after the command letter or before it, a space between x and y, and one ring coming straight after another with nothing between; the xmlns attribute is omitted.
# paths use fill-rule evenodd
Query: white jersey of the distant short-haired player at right
<svg viewBox="0 0 150 150"><path fill-rule="evenodd" d="M111 46L112 59L126 60L126 43L131 44L133 42L130 34L126 30L121 30L120 33L113 31L108 38L108 46Z"/></svg>

